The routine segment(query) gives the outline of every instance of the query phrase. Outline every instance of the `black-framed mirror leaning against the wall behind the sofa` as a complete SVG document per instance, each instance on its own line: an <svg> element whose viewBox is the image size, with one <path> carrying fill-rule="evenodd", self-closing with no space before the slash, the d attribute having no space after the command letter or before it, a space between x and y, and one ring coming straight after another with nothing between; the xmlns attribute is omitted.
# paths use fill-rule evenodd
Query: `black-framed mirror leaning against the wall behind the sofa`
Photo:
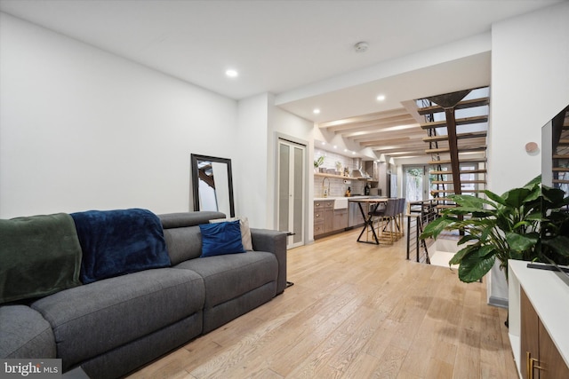
<svg viewBox="0 0 569 379"><path fill-rule="evenodd" d="M235 217L231 160L191 154L194 210L216 210Z"/></svg>

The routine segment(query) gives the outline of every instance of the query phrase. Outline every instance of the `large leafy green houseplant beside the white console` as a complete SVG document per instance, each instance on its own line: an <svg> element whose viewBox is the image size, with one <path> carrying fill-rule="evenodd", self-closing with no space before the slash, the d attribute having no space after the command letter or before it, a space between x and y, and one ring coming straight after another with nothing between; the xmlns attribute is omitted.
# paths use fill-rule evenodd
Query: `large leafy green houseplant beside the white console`
<svg viewBox="0 0 569 379"><path fill-rule="evenodd" d="M421 233L421 239L437 239L445 230L463 233L463 247L449 261L459 265L460 280L482 279L496 259L502 270L508 259L569 263L569 216L563 209L569 197L562 190L542 186L538 177L502 195L484 193L486 199L449 196L457 206L444 209Z"/></svg>

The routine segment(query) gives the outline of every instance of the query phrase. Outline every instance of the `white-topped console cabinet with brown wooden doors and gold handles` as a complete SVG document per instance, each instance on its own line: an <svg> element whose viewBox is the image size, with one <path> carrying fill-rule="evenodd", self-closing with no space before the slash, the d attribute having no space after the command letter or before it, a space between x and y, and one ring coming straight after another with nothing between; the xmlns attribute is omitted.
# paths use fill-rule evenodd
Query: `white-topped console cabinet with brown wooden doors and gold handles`
<svg viewBox="0 0 569 379"><path fill-rule="evenodd" d="M569 283L509 261L509 340L523 379L569 378Z"/></svg>

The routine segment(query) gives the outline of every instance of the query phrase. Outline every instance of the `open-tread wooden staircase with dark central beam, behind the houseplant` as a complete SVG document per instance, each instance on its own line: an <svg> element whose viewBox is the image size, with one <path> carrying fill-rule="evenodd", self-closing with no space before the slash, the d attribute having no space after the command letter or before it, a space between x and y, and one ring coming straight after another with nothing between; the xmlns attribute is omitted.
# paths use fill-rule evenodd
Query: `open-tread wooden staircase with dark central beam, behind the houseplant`
<svg viewBox="0 0 569 379"><path fill-rule="evenodd" d="M451 194L470 194L477 196L486 186L486 137L488 133L489 88L456 91L425 99L415 100L418 113L425 118L421 129L428 136L423 141L428 144L425 154L430 155L429 176L432 199L420 201L417 209L421 215L424 209L444 209L456 204L448 197ZM436 177L436 178L433 178ZM433 217L437 217L436 214ZM423 217L416 218L417 234L421 233ZM411 234L411 233L409 233ZM411 248L416 249L417 262L448 266L448 261L458 251L456 235L437 241L419 241L412 246L408 241L407 259ZM409 240L409 238L408 238ZM421 259L421 257L425 257Z"/></svg>

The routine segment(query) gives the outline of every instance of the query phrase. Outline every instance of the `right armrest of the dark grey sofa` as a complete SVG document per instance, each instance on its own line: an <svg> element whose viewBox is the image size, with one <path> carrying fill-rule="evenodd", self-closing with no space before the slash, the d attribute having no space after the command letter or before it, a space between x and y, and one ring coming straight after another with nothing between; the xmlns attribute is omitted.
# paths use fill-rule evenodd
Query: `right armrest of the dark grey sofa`
<svg viewBox="0 0 569 379"><path fill-rule="evenodd" d="M281 294L286 288L286 233L268 229L251 228L252 249L267 251L276 256L278 262L278 279L276 294Z"/></svg>

